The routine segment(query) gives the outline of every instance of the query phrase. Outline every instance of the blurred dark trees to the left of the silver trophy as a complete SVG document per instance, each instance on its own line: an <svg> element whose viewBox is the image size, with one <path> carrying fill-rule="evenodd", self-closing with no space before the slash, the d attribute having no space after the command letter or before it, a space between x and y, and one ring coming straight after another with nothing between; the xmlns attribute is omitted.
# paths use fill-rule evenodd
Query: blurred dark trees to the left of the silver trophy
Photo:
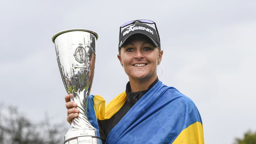
<svg viewBox="0 0 256 144"><path fill-rule="evenodd" d="M0 144L63 144L68 128L49 118L33 123L16 107L0 105Z"/></svg>

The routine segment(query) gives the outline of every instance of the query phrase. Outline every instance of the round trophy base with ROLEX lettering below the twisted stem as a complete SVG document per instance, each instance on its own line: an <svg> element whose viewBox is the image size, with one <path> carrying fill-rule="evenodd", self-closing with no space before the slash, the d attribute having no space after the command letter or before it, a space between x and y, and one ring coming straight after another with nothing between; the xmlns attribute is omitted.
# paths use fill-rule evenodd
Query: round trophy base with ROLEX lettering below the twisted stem
<svg viewBox="0 0 256 144"><path fill-rule="evenodd" d="M102 144L100 133L93 129L67 132L64 140L64 144Z"/></svg>

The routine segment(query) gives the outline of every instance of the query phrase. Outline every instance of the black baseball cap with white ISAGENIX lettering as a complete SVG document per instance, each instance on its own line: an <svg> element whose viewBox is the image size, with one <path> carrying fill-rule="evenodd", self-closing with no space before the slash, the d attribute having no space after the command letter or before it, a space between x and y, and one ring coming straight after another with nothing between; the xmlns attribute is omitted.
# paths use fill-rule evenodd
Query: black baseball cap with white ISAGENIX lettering
<svg viewBox="0 0 256 144"><path fill-rule="evenodd" d="M121 32L118 51L129 37L137 34L147 36L150 40L152 40L156 47L160 48L160 40L156 30L147 24L136 22Z"/></svg>

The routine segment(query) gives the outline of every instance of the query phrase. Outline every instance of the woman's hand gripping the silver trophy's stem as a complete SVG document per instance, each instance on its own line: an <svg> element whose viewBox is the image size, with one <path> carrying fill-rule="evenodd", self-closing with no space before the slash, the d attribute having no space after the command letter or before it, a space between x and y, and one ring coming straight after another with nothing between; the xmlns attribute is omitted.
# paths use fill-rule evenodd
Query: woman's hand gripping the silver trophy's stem
<svg viewBox="0 0 256 144"><path fill-rule="evenodd" d="M78 117L79 109L77 108L77 103L70 101L70 97L73 97L72 94L65 96L66 108L68 110L67 121L69 124L72 123L72 119Z"/></svg>

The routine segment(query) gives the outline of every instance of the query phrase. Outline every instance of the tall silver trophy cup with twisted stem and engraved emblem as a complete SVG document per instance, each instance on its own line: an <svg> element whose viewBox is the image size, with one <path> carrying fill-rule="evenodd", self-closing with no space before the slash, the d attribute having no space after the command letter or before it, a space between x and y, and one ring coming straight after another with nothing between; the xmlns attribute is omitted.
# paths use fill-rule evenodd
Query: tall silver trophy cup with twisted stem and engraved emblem
<svg viewBox="0 0 256 144"><path fill-rule="evenodd" d="M80 110L64 137L64 144L102 144L99 132L87 118L97 39L98 35L87 29L69 29L52 37L64 86L68 94L74 95L70 99Z"/></svg>

